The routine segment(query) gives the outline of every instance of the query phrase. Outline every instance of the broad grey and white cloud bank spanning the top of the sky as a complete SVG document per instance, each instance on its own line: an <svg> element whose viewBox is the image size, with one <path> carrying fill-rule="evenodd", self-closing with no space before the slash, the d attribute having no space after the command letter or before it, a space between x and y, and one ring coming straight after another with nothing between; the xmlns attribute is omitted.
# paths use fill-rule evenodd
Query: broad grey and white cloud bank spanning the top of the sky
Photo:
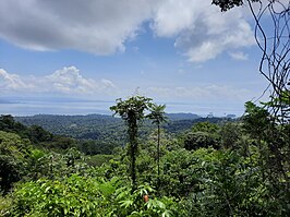
<svg viewBox="0 0 290 217"><path fill-rule="evenodd" d="M203 62L254 44L242 10L221 13L204 0L1 0L0 37L34 50L111 55L150 21L157 37L174 38L190 61Z"/></svg>

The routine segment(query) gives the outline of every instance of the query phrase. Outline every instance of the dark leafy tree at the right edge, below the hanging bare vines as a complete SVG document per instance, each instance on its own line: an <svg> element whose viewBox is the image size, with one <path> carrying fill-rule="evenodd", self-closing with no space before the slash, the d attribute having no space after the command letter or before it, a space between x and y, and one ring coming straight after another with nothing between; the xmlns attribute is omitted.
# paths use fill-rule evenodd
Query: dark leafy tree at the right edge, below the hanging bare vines
<svg viewBox="0 0 290 217"><path fill-rule="evenodd" d="M263 161L266 161L267 168L271 170L271 179L280 179L282 174L288 180L289 134L283 131L289 131L289 129L282 128L281 131L281 126L274 124L271 118L265 108L261 108L251 101L245 104L244 130L256 141L255 143L261 152L262 167L264 167ZM263 153L264 149L268 153L267 155ZM275 183L276 180L273 182Z"/></svg>

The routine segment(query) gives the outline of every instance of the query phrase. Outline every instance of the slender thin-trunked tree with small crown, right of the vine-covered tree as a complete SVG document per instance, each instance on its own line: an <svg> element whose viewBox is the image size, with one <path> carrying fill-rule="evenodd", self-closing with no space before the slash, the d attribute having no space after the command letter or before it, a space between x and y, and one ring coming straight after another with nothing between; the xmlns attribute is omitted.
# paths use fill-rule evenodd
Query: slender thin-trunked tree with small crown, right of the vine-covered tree
<svg viewBox="0 0 290 217"><path fill-rule="evenodd" d="M160 124L167 121L165 116L166 105L155 105L150 106L150 113L147 116L154 124L157 125L157 177L158 177L158 188L160 184Z"/></svg>

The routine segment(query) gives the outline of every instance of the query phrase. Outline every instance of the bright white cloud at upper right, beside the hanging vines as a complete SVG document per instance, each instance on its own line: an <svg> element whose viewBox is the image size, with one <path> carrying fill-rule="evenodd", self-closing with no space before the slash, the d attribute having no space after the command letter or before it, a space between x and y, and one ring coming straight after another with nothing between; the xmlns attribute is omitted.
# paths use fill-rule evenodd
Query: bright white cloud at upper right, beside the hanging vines
<svg viewBox="0 0 290 217"><path fill-rule="evenodd" d="M198 8L198 15L192 25L180 33L174 44L191 62L204 62L223 51L255 44L251 26L242 16L241 9L221 13L217 8L204 7L202 2Z"/></svg>

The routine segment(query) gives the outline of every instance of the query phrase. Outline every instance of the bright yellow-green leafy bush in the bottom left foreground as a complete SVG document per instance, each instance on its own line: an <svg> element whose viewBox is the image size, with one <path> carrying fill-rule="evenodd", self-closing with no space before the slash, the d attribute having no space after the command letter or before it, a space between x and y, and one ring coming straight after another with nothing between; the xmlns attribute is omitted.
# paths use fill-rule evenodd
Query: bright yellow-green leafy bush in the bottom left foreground
<svg viewBox="0 0 290 217"><path fill-rule="evenodd" d="M21 184L13 193L11 216L104 216L101 204L96 180L73 174Z"/></svg>

